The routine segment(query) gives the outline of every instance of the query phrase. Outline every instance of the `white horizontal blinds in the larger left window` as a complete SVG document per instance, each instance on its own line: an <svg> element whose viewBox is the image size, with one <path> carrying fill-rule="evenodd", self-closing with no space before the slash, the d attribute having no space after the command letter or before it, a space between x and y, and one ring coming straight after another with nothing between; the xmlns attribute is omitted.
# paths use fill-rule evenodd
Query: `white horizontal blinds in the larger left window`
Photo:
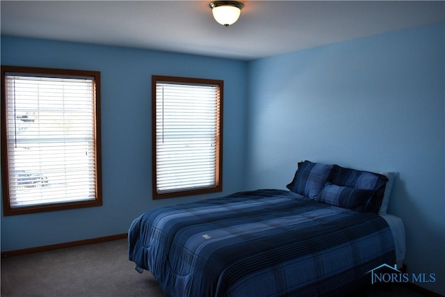
<svg viewBox="0 0 445 297"><path fill-rule="evenodd" d="M95 82L6 74L10 207L95 200Z"/></svg>

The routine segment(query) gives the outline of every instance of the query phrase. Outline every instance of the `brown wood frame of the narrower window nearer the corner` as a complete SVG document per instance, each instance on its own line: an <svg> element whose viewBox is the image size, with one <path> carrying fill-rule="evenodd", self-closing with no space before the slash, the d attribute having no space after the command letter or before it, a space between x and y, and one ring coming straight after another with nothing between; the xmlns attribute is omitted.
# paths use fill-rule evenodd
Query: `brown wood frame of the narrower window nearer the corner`
<svg viewBox="0 0 445 297"><path fill-rule="evenodd" d="M172 83L174 85L185 86L213 86L216 90L215 104L215 131L214 131L214 182L207 186L197 186L196 188L182 188L177 186L170 191L159 191L158 188L158 147L156 143L156 86L158 83ZM223 92L224 81L216 79L195 79L186 77L152 76L152 189L153 199L175 198L186 195L200 195L223 191ZM163 100L162 100L163 102ZM160 105L160 104L158 104ZM163 109L162 109L163 110ZM197 111L195 111L197 113ZM166 121L166 120L165 120ZM160 129L160 127L157 127ZM213 176L213 175L212 175Z"/></svg>

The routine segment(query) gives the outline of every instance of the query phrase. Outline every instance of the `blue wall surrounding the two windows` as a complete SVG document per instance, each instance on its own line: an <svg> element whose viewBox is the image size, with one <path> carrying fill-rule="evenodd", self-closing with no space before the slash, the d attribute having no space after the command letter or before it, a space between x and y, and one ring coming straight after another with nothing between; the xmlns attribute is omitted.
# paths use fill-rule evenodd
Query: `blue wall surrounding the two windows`
<svg viewBox="0 0 445 297"><path fill-rule="evenodd" d="M1 38L1 64L98 70L102 79L104 205L1 217L1 250L18 250L122 234L161 204L152 200L152 74L223 79L223 193L243 187L247 63L221 58L25 38Z"/></svg>

